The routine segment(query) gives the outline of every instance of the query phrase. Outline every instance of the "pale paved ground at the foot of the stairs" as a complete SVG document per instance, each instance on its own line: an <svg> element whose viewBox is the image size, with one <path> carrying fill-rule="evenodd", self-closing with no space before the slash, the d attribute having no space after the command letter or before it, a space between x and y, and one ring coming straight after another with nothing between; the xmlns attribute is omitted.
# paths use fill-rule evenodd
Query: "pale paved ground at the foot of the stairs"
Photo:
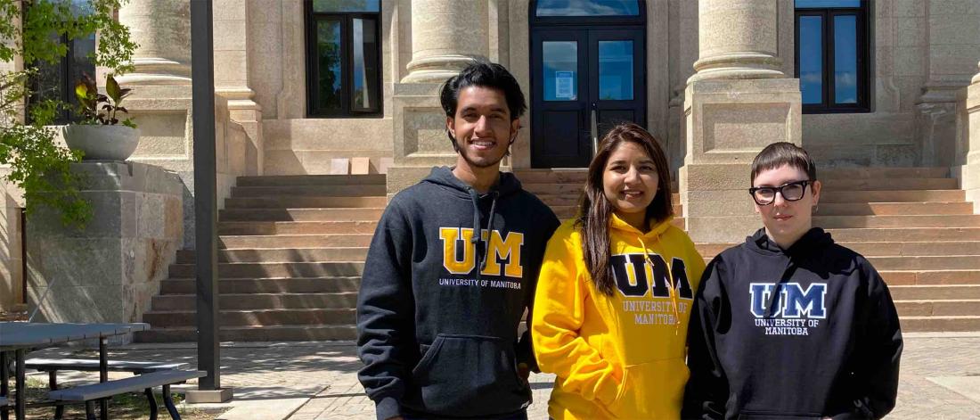
<svg viewBox="0 0 980 420"><path fill-rule="evenodd" d="M53 348L32 355L67 356L76 351ZM112 349L110 358L194 365L196 350L193 343L134 344ZM235 399L201 406L225 410L219 419L374 418L374 406L357 382L361 363L351 342L230 343L221 347L221 366L221 385L234 388ZM47 379L43 374L31 376ZM63 384L91 380L86 374L59 378ZM530 418L547 418L553 381L551 375L531 377ZM980 420L980 334L908 334L898 407L888 418Z"/></svg>

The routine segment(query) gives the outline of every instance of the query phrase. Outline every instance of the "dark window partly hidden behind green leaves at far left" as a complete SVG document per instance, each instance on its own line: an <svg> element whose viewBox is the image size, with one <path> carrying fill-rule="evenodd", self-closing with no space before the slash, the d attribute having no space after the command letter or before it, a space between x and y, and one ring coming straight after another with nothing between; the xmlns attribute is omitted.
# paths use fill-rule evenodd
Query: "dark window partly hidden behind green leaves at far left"
<svg viewBox="0 0 980 420"><path fill-rule="evenodd" d="M72 11L77 16L91 13L91 5L87 0L72 0ZM74 96L74 84L88 76L95 79L95 63L91 55L95 52L95 33L90 33L85 37L69 39L68 35L52 35L61 38L61 42L68 46L68 54L58 63L48 62L36 63L38 73L31 80L30 103L39 103L43 100L60 100L69 104L72 108L78 106L78 100ZM62 109L55 118L54 124L62 125L75 121L73 109Z"/></svg>

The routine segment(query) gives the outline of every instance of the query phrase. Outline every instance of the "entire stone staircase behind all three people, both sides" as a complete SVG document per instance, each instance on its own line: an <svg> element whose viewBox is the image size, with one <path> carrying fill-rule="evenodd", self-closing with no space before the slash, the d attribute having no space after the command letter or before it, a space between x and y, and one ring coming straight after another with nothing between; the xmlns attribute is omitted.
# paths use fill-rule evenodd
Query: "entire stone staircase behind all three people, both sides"
<svg viewBox="0 0 980 420"><path fill-rule="evenodd" d="M574 215L585 170L517 177L560 218ZM815 223L881 272L905 331L980 331L980 215L947 169L835 169L820 178ZM384 183L383 175L240 178L220 215L221 340L353 340ZM677 194L673 203L680 215ZM710 259L732 245L698 248ZM153 328L137 341L195 340L193 253L180 251L170 273L144 315Z"/></svg>

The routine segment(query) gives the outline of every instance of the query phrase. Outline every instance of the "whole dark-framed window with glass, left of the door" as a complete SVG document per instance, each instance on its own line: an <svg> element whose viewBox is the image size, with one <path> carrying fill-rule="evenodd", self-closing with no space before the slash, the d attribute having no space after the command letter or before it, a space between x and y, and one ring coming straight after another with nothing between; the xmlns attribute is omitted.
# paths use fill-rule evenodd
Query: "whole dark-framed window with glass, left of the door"
<svg viewBox="0 0 980 420"><path fill-rule="evenodd" d="M380 0L307 0L307 113L381 115Z"/></svg>

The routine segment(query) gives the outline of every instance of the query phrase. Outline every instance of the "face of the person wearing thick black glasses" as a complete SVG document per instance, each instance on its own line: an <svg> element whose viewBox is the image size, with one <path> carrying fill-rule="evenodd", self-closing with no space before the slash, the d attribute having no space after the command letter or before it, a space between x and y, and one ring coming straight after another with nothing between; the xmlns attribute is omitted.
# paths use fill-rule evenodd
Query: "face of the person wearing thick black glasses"
<svg viewBox="0 0 980 420"><path fill-rule="evenodd" d="M781 186L798 181L807 181L807 173L791 165L761 171L752 186ZM781 193L776 193L770 204L754 203L756 212L762 217L765 233L783 249L790 247L812 227L813 206L820 200L820 182L808 184L803 198L788 201Z"/></svg>

